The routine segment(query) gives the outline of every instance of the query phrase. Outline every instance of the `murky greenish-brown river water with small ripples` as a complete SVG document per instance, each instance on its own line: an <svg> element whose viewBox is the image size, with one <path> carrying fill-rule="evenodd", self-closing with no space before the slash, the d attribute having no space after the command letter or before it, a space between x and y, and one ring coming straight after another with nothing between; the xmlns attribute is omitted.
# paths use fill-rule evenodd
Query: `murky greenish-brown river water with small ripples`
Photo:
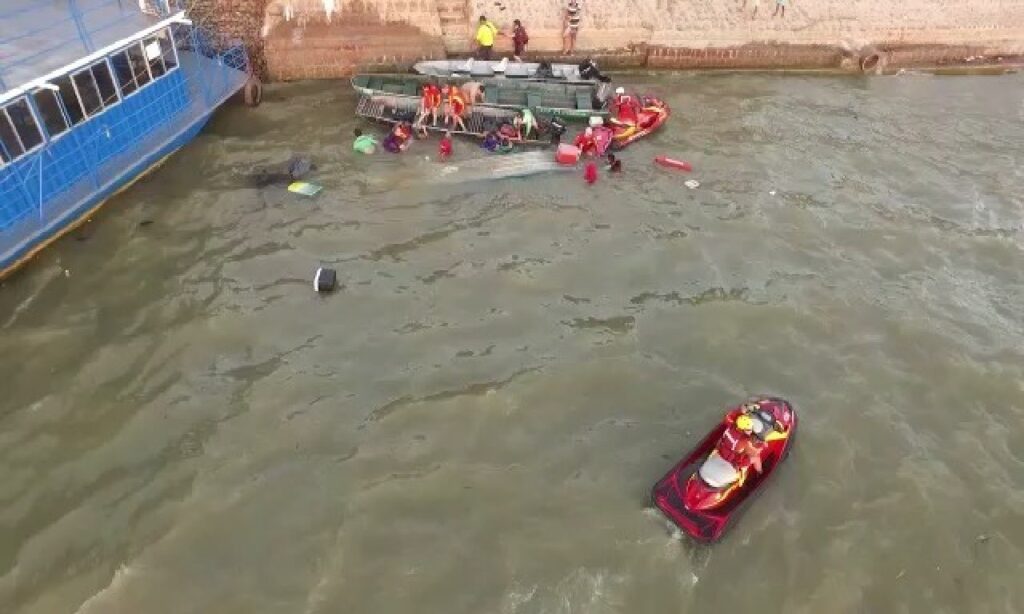
<svg viewBox="0 0 1024 614"><path fill-rule="evenodd" d="M276 86L8 279L0 610L1024 610L1024 79L630 79L675 115L594 186ZM696 546L649 488L761 393L795 452Z"/></svg>

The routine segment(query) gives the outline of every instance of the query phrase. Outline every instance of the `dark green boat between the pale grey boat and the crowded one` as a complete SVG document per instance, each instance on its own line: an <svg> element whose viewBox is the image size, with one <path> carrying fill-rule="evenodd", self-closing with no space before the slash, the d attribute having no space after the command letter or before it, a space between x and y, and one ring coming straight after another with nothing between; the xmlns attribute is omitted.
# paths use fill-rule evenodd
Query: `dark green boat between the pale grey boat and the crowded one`
<svg viewBox="0 0 1024 614"><path fill-rule="evenodd" d="M419 105L423 84L437 81L426 75L376 75L352 77L352 87L365 96L391 96L410 98L414 108ZM442 80L442 84L462 85L469 77ZM606 102L611 94L607 83L548 83L543 81L479 79L486 86L486 101L474 108L492 108L519 112L529 108L539 118L586 120L607 117Z"/></svg>

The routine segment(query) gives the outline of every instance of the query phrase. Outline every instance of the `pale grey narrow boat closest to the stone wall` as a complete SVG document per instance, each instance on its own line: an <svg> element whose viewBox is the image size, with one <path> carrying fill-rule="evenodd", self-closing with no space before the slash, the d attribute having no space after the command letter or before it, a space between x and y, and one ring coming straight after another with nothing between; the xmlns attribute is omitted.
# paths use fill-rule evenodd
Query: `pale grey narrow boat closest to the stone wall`
<svg viewBox="0 0 1024 614"><path fill-rule="evenodd" d="M510 62L483 59L430 59L413 64L413 71L432 77L473 77L476 79L523 79L554 82L588 82L609 79L598 70L589 57L579 64L550 63L547 61Z"/></svg>

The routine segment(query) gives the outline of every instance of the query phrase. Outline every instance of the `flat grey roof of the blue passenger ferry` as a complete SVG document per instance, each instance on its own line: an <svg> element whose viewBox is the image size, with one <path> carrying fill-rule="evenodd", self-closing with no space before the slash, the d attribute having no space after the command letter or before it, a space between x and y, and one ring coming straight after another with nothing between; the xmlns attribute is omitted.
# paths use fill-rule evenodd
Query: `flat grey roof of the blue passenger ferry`
<svg viewBox="0 0 1024 614"><path fill-rule="evenodd" d="M121 41L127 44L168 16L143 12L136 0L0 0L0 102L45 75L101 55L96 52Z"/></svg>

